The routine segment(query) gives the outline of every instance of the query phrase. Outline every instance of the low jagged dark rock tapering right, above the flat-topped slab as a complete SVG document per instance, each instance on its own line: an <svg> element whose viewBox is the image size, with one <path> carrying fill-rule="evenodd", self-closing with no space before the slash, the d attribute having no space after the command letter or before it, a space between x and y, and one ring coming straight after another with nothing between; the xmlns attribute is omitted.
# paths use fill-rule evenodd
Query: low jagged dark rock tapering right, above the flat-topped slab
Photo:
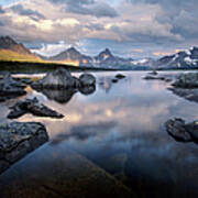
<svg viewBox="0 0 198 198"><path fill-rule="evenodd" d="M18 101L13 107L10 107L11 112L9 119L19 118L25 113L32 113L37 117L51 117L61 119L64 116L47 108L46 106L38 102L36 98Z"/></svg>

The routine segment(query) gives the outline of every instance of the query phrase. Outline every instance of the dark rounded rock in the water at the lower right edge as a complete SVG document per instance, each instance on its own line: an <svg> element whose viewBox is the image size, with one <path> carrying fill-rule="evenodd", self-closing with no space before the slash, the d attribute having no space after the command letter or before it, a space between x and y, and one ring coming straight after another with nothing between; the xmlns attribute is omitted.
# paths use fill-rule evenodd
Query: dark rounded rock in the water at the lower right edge
<svg viewBox="0 0 198 198"><path fill-rule="evenodd" d="M185 123L183 119L168 120L165 128L169 135L179 142L198 142L198 121Z"/></svg>

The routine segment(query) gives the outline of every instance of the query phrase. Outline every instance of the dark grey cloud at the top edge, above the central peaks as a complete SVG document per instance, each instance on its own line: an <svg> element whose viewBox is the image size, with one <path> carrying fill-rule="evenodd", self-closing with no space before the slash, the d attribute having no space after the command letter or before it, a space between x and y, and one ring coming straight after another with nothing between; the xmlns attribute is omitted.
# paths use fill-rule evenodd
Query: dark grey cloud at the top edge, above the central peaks
<svg viewBox="0 0 198 198"><path fill-rule="evenodd" d="M53 3L63 3L65 6L66 11L85 14L85 15L94 15L97 18L116 18L118 16L117 11L110 7L106 2L95 1L95 0L50 0Z"/></svg>

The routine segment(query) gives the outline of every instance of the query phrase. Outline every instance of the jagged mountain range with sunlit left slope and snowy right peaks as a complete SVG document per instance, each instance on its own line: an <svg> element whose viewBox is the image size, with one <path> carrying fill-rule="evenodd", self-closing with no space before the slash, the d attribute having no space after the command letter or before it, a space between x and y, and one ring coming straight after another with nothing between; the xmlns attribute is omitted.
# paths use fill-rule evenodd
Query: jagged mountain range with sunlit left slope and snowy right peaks
<svg viewBox="0 0 198 198"><path fill-rule="evenodd" d="M123 58L114 56L106 48L97 56L87 56L76 48L70 47L55 56L45 57L34 54L23 44L16 43L10 36L0 36L0 59L6 61L33 61L46 63L59 63L81 67L114 68L114 69L172 69L197 68L198 47L183 51L160 59L153 58Z"/></svg>

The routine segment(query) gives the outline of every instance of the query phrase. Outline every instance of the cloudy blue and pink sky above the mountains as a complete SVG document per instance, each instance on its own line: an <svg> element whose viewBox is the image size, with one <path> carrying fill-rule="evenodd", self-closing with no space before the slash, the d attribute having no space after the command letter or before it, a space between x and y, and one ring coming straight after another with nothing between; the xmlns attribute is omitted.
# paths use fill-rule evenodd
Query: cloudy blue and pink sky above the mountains
<svg viewBox="0 0 198 198"><path fill-rule="evenodd" d="M55 55L141 58L198 46L198 0L0 0L0 35Z"/></svg>

